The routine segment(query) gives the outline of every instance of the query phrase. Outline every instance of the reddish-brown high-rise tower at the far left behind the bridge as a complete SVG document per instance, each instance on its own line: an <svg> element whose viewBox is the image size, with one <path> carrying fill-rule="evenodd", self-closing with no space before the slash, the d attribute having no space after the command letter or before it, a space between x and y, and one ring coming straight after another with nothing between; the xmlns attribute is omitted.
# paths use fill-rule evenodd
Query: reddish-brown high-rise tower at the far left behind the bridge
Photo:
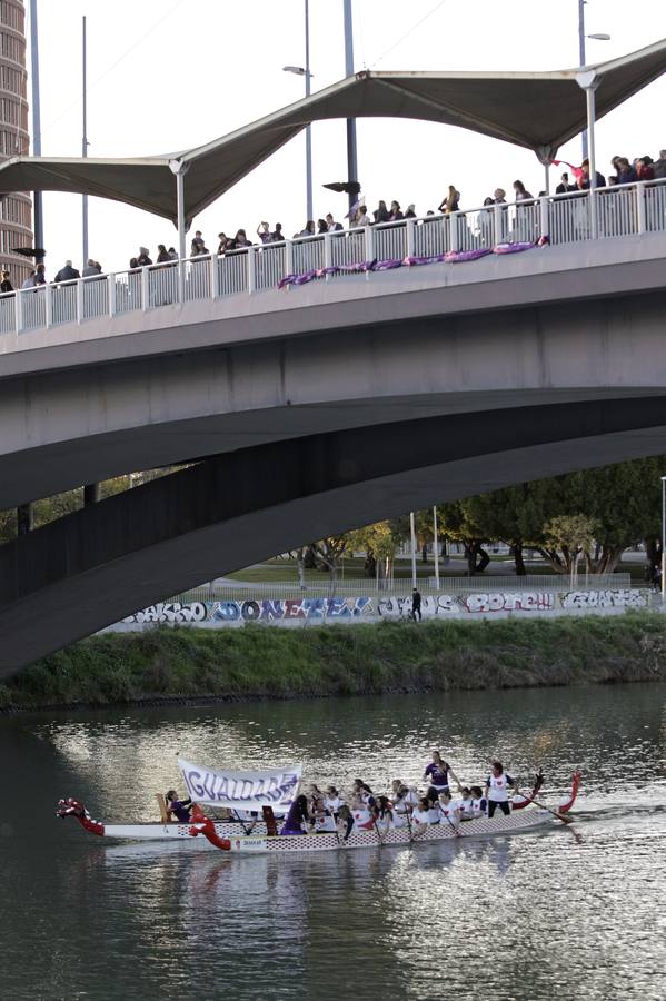
<svg viewBox="0 0 666 1001"><path fill-rule="evenodd" d="M0 0L0 161L30 152L26 72L26 9L22 0ZM0 196L0 266L20 288L30 274L29 258L17 247L32 246L32 200Z"/></svg>

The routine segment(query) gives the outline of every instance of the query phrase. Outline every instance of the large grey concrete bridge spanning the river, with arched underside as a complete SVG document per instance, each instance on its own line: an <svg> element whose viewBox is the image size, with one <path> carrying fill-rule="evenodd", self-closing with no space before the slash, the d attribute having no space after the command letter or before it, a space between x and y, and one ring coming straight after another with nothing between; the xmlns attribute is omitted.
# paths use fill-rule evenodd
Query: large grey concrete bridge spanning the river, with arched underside
<svg viewBox="0 0 666 1001"><path fill-rule="evenodd" d="M140 275L146 308L81 315L117 276L47 291L48 326L16 303L0 508L197 465L0 548L0 671L309 538L666 453L665 255L643 231L242 296L213 259Z"/></svg>

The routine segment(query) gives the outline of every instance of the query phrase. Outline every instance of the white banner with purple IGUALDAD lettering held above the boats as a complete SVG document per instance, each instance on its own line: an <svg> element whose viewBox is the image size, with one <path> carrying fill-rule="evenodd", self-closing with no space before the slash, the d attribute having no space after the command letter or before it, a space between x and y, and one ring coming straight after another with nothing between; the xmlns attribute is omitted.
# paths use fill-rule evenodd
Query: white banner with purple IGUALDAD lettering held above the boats
<svg viewBox="0 0 666 1001"><path fill-rule="evenodd" d="M298 792L302 765L265 772L215 772L178 759L188 795L201 806L257 810L272 806L286 812Z"/></svg>

